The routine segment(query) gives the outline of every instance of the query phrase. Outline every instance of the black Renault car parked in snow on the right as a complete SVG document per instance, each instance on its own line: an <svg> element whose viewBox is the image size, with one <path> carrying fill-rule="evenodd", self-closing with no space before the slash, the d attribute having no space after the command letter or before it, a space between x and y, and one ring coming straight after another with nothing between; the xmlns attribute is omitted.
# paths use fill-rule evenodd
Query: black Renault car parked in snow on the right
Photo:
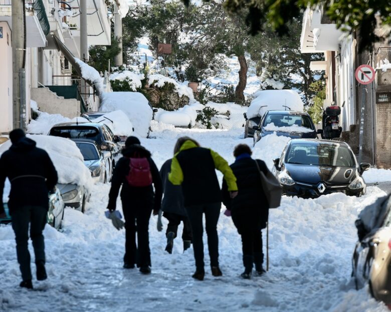
<svg viewBox="0 0 391 312"><path fill-rule="evenodd" d="M283 194L314 198L343 192L360 196L366 185L361 174L369 163L358 165L348 144L322 139L292 139L280 158L273 160L272 173Z"/></svg>

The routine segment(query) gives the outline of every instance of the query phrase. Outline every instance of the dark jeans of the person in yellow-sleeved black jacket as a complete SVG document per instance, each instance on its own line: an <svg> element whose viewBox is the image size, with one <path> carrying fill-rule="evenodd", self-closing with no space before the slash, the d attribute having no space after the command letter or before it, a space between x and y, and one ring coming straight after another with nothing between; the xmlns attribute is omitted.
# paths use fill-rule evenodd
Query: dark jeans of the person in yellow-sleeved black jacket
<svg viewBox="0 0 391 312"><path fill-rule="evenodd" d="M193 249L197 270L204 270L203 214L205 213L205 228L208 234L209 256L211 266L219 266L219 237L217 221L220 215L220 202L192 205L185 207L193 234Z"/></svg>

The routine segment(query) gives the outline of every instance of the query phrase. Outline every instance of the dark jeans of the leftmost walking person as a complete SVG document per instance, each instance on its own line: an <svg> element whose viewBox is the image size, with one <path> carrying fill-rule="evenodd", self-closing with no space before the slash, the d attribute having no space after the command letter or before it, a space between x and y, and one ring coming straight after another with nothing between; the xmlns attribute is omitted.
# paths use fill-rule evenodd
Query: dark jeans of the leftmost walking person
<svg viewBox="0 0 391 312"><path fill-rule="evenodd" d="M11 215L12 228L15 232L17 257L23 280L32 279L29 252L29 223L30 238L33 241L35 261L45 262L45 242L42 231L46 225L48 210L42 206L23 206L13 210Z"/></svg>

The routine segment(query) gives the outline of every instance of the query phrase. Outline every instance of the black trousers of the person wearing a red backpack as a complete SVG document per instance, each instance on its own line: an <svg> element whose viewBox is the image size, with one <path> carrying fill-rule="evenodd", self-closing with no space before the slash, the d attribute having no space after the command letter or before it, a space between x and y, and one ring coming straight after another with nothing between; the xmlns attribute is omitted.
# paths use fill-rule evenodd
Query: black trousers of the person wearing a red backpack
<svg viewBox="0 0 391 312"><path fill-rule="evenodd" d="M138 267L151 265L149 250L149 218L152 212L151 202L132 202L122 200L125 217L125 263L137 264ZM136 245L137 232L137 245Z"/></svg>

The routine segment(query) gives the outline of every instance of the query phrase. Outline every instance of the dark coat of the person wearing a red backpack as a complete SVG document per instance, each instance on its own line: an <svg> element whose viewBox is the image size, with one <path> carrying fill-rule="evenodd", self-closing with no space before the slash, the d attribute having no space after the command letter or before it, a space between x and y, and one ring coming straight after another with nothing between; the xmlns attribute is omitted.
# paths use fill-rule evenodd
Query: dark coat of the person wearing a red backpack
<svg viewBox="0 0 391 312"><path fill-rule="evenodd" d="M139 144L132 144L129 147L122 149L122 154L123 157L118 160L114 168L107 208L109 210L115 210L119 188L122 185L121 199L126 204L126 206L129 207L132 205L132 203L137 204L137 202L140 201L149 201L151 203L151 208L154 210L159 210L162 197L162 183L159 170L151 158L151 153ZM129 173L129 158L134 156L146 157L148 159L152 174L152 183L155 187L154 192L152 185L145 187L135 187L130 186L126 181L125 177ZM122 208L125 209L125 207Z"/></svg>

